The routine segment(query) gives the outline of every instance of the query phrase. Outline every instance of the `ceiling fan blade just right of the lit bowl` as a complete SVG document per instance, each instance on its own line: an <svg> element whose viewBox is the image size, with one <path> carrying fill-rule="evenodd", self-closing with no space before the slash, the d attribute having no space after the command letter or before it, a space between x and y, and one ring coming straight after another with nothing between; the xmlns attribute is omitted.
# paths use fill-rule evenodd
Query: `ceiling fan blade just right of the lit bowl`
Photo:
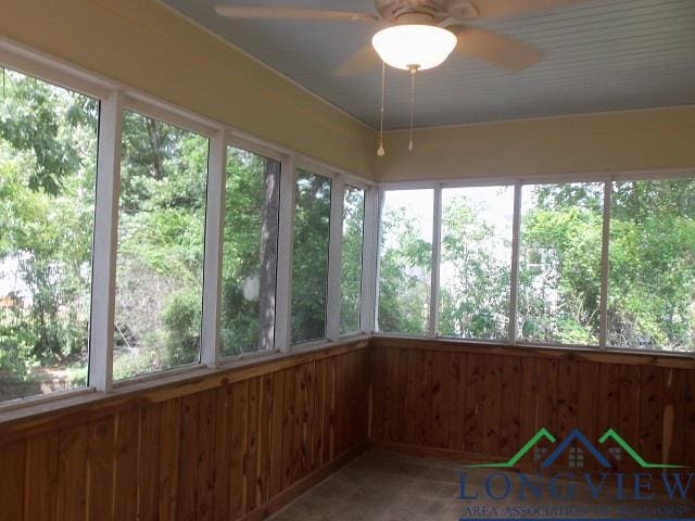
<svg viewBox="0 0 695 521"><path fill-rule="evenodd" d="M522 71L535 65L543 54L535 47L466 25L453 25L446 27L458 37L455 51L478 60L483 60L505 71Z"/></svg>

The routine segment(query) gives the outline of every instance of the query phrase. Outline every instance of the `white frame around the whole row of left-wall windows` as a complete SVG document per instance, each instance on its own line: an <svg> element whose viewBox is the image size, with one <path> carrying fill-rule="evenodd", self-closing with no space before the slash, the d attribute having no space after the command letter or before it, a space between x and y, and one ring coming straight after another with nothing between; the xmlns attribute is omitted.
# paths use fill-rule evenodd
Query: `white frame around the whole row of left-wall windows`
<svg viewBox="0 0 695 521"><path fill-rule="evenodd" d="M367 200L376 200L376 182L357 174L336 168L305 154L267 142L240 129L220 122L212 120L192 111L165 102L127 85L98 74L84 71L60 59L36 52L20 43L0 37L0 65L37 79L88 96L100 103L98 167L94 203L94 239L92 253L92 290L90 304L89 363L87 386L70 391L56 391L47 395L31 395L0 404L0 414L7 410L26 409L46 403L68 403L75 396L94 393L97 396L114 392L127 392L155 385L159 382L173 382L190 378L193 374L207 374L216 370L244 365L244 358L273 358L285 356L290 351L321 348L331 342L342 340L340 335L315 342L290 345L291 317L291 266L294 218L294 182L296 168L331 179L331 198L338 183L350 183L365 190L365 238L367 230L376 229L376 208L369 211ZM118 230L121 147L124 111L132 111L143 116L174 125L200 135L210 140L207 158L205 238L203 260L203 298L200 361L179 366L160 372L140 374L123 381L113 381L113 316L115 309L115 264ZM236 147L281 163L280 173L280 220L278 232L278 265L276 285L276 320L271 336L274 348L236 357L222 357L219 353L219 305L222 292L222 254L224 230L224 204L226 188L227 147ZM368 195L369 194L369 195ZM342 212L333 217L331 204L331 252L342 247ZM342 205L340 205L342 206ZM376 206L376 205L374 205ZM340 229L341 233L333 231ZM376 233L372 232L372 236ZM329 257L330 258L330 257ZM362 288L369 288L370 259L376 258L376 242L365 240L363 249ZM336 264L336 263L333 263ZM338 263L340 264L340 263ZM327 313L334 325L340 325L340 267L331 268L329 278L332 291ZM336 280L338 285L336 288ZM374 291L371 291L374 294ZM374 316L374 297L361 303L362 333L371 332L368 326ZM337 304L336 304L337 302ZM334 331L333 331L334 332Z"/></svg>

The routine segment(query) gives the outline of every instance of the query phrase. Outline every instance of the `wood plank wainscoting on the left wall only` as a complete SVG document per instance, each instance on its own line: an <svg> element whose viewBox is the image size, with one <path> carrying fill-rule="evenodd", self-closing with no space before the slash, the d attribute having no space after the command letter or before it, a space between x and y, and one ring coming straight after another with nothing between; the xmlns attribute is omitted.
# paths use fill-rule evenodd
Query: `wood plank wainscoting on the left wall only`
<svg viewBox="0 0 695 521"><path fill-rule="evenodd" d="M365 447L366 346L5 422L0 518L262 519Z"/></svg>

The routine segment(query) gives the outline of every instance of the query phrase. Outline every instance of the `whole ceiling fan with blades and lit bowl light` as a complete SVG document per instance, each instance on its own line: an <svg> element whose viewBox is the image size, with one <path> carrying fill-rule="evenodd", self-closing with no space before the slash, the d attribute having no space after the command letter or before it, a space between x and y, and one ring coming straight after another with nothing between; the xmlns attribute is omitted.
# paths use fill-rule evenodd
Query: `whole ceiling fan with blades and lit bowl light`
<svg viewBox="0 0 695 521"><path fill-rule="evenodd" d="M363 74L381 61L396 68L422 71L441 64L452 52L516 72L538 63L542 53L531 45L469 24L582 1L586 0L376 0L376 13L229 4L217 5L215 11L229 18L376 24L380 30L371 45L361 48L336 69L341 76ZM464 23L450 24L451 21Z"/></svg>

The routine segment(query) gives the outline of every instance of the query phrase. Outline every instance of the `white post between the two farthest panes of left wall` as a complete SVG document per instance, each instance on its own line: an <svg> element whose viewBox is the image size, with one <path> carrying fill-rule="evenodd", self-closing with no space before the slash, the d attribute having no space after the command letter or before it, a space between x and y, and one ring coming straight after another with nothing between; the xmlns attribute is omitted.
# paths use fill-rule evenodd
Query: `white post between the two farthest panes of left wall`
<svg viewBox="0 0 695 521"><path fill-rule="evenodd" d="M342 174L337 174L330 187L330 236L328 242L328 284L326 291L326 338L330 342L338 342L340 340L344 200L345 178Z"/></svg>

